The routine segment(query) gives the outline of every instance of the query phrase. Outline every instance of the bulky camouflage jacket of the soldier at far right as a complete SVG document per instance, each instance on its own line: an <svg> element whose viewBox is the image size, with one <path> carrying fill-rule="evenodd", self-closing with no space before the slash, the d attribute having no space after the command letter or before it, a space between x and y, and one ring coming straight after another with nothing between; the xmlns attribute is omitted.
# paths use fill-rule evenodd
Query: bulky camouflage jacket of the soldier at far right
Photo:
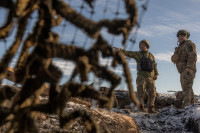
<svg viewBox="0 0 200 133"><path fill-rule="evenodd" d="M179 44L179 46L175 48L171 60L176 64L179 73L185 71L186 68L196 72L197 51L195 44L190 40Z"/></svg>

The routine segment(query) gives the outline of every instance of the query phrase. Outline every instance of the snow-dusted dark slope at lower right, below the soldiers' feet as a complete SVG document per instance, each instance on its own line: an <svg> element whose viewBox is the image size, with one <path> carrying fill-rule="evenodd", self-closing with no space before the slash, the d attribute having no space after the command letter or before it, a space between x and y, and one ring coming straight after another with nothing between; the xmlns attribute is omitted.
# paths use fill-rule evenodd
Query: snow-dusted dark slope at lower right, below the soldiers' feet
<svg viewBox="0 0 200 133"><path fill-rule="evenodd" d="M162 96L167 96L162 94ZM199 102L199 97L196 96ZM134 118L141 133L200 133L200 104L176 109L168 106L156 114L113 109Z"/></svg>

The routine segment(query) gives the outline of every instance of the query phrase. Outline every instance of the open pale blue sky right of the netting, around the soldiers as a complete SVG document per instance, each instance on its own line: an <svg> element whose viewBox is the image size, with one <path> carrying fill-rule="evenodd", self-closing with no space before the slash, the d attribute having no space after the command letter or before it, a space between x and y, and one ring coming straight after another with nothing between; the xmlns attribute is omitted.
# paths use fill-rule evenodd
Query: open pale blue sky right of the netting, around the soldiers
<svg viewBox="0 0 200 133"><path fill-rule="evenodd" d="M180 29L190 32L189 40L197 46L197 73L194 80L194 93L200 94L199 72L199 31L200 31L199 0L151 0L146 12L138 40L145 38L150 41L150 51L155 55L158 64L159 78L156 81L158 92L181 90L180 75L170 57L177 46L176 33Z"/></svg>

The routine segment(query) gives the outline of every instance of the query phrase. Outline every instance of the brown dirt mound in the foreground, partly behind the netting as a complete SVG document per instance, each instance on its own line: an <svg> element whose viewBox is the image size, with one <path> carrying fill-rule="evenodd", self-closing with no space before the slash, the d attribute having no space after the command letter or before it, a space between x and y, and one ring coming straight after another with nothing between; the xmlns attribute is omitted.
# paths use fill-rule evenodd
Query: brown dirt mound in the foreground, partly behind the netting
<svg viewBox="0 0 200 133"><path fill-rule="evenodd" d="M94 109L82 104L69 102L66 105L65 113L70 113L74 110L85 110L87 111L97 123L100 129L100 133L106 132L111 133L138 133L139 128L132 117L126 116L122 113L115 113L106 109ZM76 132L76 133L87 133L84 124L81 119L77 119L73 123L70 129L60 129L59 120L55 115L40 114L36 120L37 126L41 132L48 131L62 131L62 132Z"/></svg>

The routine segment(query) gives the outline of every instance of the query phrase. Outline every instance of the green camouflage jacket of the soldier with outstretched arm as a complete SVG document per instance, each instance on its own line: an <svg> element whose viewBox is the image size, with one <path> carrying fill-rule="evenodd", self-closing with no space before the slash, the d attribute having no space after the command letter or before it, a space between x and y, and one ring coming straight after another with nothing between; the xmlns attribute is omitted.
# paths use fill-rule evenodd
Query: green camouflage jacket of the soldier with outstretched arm
<svg viewBox="0 0 200 133"><path fill-rule="evenodd" d="M127 57L135 59L137 63L137 75L144 76L144 77L150 77L153 78L155 75L158 75L158 70L157 70L157 64L155 62L154 56L150 52L142 52L142 51L125 51L121 50ZM147 72L147 71L142 71L140 67L140 62L143 57L149 57L152 61L155 62L154 69L152 72Z"/></svg>

